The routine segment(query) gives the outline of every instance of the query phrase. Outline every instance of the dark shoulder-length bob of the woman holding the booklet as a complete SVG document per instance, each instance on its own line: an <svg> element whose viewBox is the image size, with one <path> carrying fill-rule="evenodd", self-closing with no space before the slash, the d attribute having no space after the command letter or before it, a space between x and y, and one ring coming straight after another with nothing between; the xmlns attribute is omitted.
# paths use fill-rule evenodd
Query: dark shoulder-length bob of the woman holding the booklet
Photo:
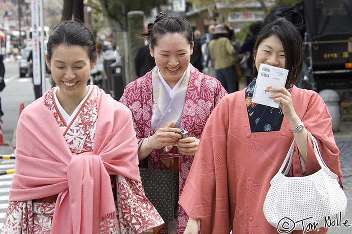
<svg viewBox="0 0 352 234"><path fill-rule="evenodd" d="M289 70L287 76L286 88L295 84L299 79L302 71L302 37L292 23L283 17L275 18L272 22L264 25L257 36L253 49L253 59L255 58L256 51L259 44L268 37L275 35L283 44L286 55L286 69ZM253 75L258 74L253 60Z"/></svg>

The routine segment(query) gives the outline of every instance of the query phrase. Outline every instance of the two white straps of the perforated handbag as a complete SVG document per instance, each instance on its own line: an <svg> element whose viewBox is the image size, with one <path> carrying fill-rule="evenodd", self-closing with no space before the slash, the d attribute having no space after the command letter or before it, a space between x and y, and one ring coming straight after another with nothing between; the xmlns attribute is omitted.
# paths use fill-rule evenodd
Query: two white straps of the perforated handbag
<svg viewBox="0 0 352 234"><path fill-rule="evenodd" d="M331 172L330 169L326 166L325 162L323 161L323 158L321 157L319 146L318 146L318 142L317 142L316 138L309 131L308 131L308 133L309 133L309 135L311 136L311 138L313 140L314 154L315 154L315 157L317 158L317 161L318 161L320 167L323 168L323 169L326 169L329 172ZM281 165L278 173L270 181L270 184L274 183L274 181L277 178L277 176L279 174L281 174L282 171L284 170L286 164L287 164L286 170L282 174L283 175L287 175L288 174L288 172L289 172L289 170L291 168L291 165L292 165L292 161L293 161L294 143L295 143L295 139L293 139L292 144L290 146L289 151L286 154L286 157L285 157L285 160L284 160L283 164ZM331 173L334 174L333 172L331 172ZM334 175L336 175L336 174L334 174Z"/></svg>

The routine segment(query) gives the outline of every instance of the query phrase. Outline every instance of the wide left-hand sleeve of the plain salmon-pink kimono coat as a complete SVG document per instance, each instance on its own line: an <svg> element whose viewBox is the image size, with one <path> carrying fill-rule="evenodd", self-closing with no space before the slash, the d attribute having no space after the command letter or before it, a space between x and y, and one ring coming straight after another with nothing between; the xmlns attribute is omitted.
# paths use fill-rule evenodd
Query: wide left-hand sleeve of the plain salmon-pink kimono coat
<svg viewBox="0 0 352 234"><path fill-rule="evenodd" d="M227 185L229 105L220 102L210 115L179 200L190 217L200 220L202 234L231 230Z"/></svg>

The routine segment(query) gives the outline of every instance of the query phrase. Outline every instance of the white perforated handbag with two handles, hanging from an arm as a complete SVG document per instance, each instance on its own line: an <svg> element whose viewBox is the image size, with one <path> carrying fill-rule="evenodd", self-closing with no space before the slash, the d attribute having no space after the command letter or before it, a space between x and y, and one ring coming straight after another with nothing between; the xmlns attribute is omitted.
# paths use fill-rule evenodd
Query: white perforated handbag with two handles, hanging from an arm
<svg viewBox="0 0 352 234"><path fill-rule="evenodd" d="M307 230L307 227L329 227L333 220L341 219L346 211L347 198L337 181L338 176L327 168L320 155L318 142L313 135L311 137L321 169L304 177L285 176L292 164L294 140L279 172L270 181L263 212L268 222L280 233Z"/></svg>

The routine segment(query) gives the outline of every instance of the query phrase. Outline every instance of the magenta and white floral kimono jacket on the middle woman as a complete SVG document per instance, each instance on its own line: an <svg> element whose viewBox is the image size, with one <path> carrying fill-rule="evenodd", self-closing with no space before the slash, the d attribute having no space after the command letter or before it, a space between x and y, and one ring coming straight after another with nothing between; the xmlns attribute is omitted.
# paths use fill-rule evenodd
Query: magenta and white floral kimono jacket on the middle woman
<svg viewBox="0 0 352 234"><path fill-rule="evenodd" d="M153 123L152 115L156 113L156 106L160 105L170 106L170 109L166 108L165 113L173 114L174 110L172 106L179 105L179 103L174 102L175 99L182 102L181 105L181 121L175 119L175 123L180 122L180 126L189 132L189 136L194 136L200 139L203 127L222 97L227 93L225 89L221 86L220 82L213 77L199 72L192 64L189 65L183 81L180 84L180 92L182 89L186 89L185 96L175 94L174 98L170 101L170 104L161 104L163 100L160 100L158 94L162 95L162 90L158 93L155 92L158 86L162 86L160 82L159 74L157 72L157 67L154 67L150 72L146 73L144 76L139 77L136 81L130 83L125 87L124 94L121 97L120 102L125 104L131 111L133 116L134 129L137 132L138 142L143 140L145 137L152 135L156 130L158 124ZM156 97L157 96L157 97ZM181 96L181 97L180 97ZM175 108L177 109L177 108ZM164 115L166 115L164 114ZM176 117L177 118L177 117ZM164 123L169 123L164 121ZM160 124L159 124L160 125ZM156 126L156 129L153 129ZM161 127L161 126L160 126ZM163 126L164 127L164 126ZM159 157L158 150L153 150L150 154L151 162L154 169L159 168ZM180 171L180 186L179 194L182 193L185 181L191 169L193 162L193 156L190 155L180 155L179 171ZM182 234L187 225L188 215L184 209L179 206L179 217L178 217L178 227L177 233ZM166 225L158 233L167 233Z"/></svg>

